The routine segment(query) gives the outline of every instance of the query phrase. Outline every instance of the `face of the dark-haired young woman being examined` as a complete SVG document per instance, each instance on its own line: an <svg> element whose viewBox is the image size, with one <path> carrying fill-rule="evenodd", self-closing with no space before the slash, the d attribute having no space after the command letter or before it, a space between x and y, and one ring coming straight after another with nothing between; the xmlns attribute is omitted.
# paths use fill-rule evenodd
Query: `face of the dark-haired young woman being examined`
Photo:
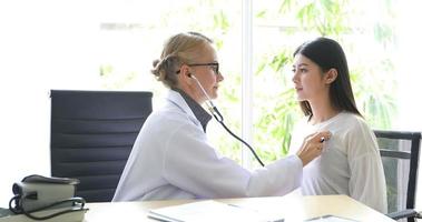
<svg viewBox="0 0 422 222"><path fill-rule="evenodd" d="M328 87L323 81L321 68L302 54L296 54L293 63L293 83L298 101L317 102L327 98Z"/></svg>

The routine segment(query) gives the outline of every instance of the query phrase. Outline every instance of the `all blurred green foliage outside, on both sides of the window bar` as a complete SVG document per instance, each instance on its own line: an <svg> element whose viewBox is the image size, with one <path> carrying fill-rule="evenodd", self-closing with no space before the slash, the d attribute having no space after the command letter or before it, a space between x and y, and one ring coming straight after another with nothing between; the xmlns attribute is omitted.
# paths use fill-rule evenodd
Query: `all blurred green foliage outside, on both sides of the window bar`
<svg viewBox="0 0 422 222"><path fill-rule="evenodd" d="M254 23L275 26L278 29L275 33L278 34L276 41L282 42L275 44L278 42L266 40L274 38L273 32L273 36L264 37L264 44L275 47L265 52L254 51L253 144L258 148L257 152L265 162L276 160L288 152L292 129L302 117L295 91L291 85L292 54L300 43L310 40L311 37L326 36L341 42L350 62L353 90L362 114L374 128L387 129L392 125L396 112L392 59L395 42L392 19L396 7L393 1L383 1L384 6L377 10L382 10L384 17L372 23L356 22L362 14L372 11L364 11L365 7L360 9L356 2L351 0L262 0L254 3L267 3L254 12ZM220 63L225 65L222 69L225 80L219 90L218 107L225 115L226 124L241 134L242 74L241 61L236 58L242 56L230 46L235 42L227 41L233 37L241 41L238 30L242 22L239 9L236 8L238 4L236 1L223 0L175 3L166 9L161 8L163 11L157 13L157 18L151 19L154 23L147 22L143 26L146 30L177 27L180 31L194 30L213 37L219 51ZM258 34L257 32L254 34ZM139 42L145 44L143 41ZM371 42L367 44L371 48L367 51L370 54L362 52L366 46L361 44L366 42ZM262 42L254 42L254 46L259 43ZM356 49L359 50L355 51ZM227 53L229 56L224 58ZM362 58L365 59L362 61ZM147 60L149 62L153 59L156 58L148 57ZM140 81L141 78L138 75L146 75L134 70L136 69L120 69L115 63L107 62L100 67L99 75L105 88L122 89L136 79ZM141 70L145 71L147 68ZM157 89L155 94L160 94L163 85L156 81L151 82L143 79L140 84L144 84L143 89L157 85L154 88ZM227 137L224 130L213 142L225 155L241 161L241 143Z"/></svg>

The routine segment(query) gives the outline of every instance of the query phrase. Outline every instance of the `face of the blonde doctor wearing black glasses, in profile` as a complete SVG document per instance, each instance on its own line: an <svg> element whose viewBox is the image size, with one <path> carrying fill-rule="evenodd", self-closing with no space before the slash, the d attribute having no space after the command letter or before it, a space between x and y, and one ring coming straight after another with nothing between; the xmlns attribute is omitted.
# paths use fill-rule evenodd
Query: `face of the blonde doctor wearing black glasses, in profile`
<svg viewBox="0 0 422 222"><path fill-rule="evenodd" d="M224 80L222 73L219 72L217 53L210 44L207 44L203 51L203 57L197 59L195 63L190 63L189 68L192 70L192 74L194 74L200 82L208 97L210 99L216 99L218 97L217 91L219 82ZM199 85L196 85L196 94L200 101L206 100L206 95L200 90Z"/></svg>

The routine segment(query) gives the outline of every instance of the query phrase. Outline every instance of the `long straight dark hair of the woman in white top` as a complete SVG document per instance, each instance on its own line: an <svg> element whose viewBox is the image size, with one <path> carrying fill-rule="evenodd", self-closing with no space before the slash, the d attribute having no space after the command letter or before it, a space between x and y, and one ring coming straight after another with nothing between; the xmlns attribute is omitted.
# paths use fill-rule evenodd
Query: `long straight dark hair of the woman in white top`
<svg viewBox="0 0 422 222"><path fill-rule="evenodd" d="M349 111L362 117L354 101L346 56L336 41L321 37L300 46L293 56L296 54L305 56L315 62L323 72L336 69L337 78L330 84L331 103L340 111ZM305 115L311 118L313 113L310 102L301 101L300 104Z"/></svg>

